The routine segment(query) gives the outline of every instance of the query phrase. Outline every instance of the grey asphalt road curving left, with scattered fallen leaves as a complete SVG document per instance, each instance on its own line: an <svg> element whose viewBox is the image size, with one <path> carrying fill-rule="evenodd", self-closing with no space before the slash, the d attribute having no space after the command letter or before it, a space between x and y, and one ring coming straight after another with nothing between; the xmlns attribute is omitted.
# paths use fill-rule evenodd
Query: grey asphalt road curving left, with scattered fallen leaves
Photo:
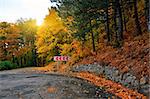
<svg viewBox="0 0 150 99"><path fill-rule="evenodd" d="M0 72L0 99L118 99L79 78L18 71Z"/></svg>

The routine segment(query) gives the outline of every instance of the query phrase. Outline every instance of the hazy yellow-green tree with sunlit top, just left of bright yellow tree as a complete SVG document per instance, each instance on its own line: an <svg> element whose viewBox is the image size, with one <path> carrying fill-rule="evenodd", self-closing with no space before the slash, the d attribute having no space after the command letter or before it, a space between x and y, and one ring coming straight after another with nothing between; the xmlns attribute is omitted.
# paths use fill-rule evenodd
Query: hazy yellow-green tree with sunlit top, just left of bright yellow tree
<svg viewBox="0 0 150 99"><path fill-rule="evenodd" d="M34 19L19 19L16 22L18 28L20 29L22 45L22 55L20 56L20 61L23 65L29 66L37 65L37 53L35 46L35 37L37 32L36 20Z"/></svg>

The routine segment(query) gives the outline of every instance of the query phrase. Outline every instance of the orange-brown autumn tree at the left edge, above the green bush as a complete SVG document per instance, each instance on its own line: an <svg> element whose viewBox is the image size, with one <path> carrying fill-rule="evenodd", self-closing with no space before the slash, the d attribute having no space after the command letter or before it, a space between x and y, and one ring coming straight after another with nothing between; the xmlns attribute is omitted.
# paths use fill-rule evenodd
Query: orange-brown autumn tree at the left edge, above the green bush
<svg viewBox="0 0 150 99"><path fill-rule="evenodd" d="M19 49L20 34L19 29L15 24L7 22L0 23L0 60L11 60L17 54Z"/></svg>

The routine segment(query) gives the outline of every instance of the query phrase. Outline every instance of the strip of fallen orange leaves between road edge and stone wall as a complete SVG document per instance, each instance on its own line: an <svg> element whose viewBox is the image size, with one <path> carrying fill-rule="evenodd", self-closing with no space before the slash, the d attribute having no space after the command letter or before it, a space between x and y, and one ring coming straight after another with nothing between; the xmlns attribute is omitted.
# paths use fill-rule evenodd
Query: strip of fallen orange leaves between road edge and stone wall
<svg viewBox="0 0 150 99"><path fill-rule="evenodd" d="M106 88L106 91L113 93L116 96L121 97L122 99L146 99L146 96L138 93L137 91L125 88L124 86L118 83L106 80L105 78L96 76L91 73L81 72L81 73L73 73L73 75L75 77L88 80L96 86L104 87Z"/></svg>

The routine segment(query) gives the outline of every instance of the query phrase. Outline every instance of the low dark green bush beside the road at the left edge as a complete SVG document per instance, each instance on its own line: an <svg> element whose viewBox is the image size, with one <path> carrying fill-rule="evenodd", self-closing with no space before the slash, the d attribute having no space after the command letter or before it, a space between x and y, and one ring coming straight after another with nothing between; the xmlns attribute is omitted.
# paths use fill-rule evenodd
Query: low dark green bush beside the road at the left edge
<svg viewBox="0 0 150 99"><path fill-rule="evenodd" d="M0 70L9 70L17 68L17 65L10 61L0 61Z"/></svg>

